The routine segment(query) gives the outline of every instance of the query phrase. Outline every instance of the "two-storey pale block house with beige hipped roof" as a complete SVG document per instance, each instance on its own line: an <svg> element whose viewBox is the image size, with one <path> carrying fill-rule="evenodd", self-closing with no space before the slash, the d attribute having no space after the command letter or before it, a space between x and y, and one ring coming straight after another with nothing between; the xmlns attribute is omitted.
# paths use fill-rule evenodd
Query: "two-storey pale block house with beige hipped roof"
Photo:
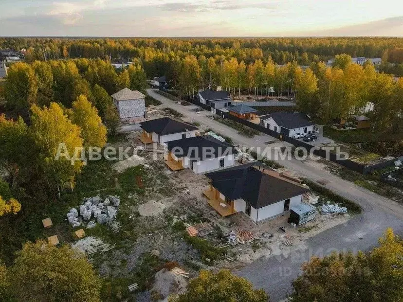
<svg viewBox="0 0 403 302"><path fill-rule="evenodd" d="M143 121L146 114L146 96L137 90L124 88L112 94L120 120L126 123Z"/></svg>

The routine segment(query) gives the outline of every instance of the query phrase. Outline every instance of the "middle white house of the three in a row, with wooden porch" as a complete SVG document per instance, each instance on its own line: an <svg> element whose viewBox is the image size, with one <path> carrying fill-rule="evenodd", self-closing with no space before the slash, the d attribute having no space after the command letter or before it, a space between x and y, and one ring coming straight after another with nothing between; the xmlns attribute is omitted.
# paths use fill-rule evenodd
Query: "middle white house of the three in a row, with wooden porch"
<svg viewBox="0 0 403 302"><path fill-rule="evenodd" d="M237 151L232 145L210 135L167 143L165 164L172 170L189 168L196 174L234 166Z"/></svg>

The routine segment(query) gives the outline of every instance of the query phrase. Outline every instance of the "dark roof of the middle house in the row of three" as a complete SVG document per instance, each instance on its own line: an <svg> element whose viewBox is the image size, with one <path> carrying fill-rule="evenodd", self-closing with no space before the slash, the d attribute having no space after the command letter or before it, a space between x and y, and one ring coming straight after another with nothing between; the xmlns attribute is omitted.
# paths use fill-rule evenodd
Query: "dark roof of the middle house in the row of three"
<svg viewBox="0 0 403 302"><path fill-rule="evenodd" d="M167 142L168 150L176 157L186 156L190 160L208 160L238 153L233 145L220 142L210 135L189 137ZM208 149L206 149L208 148ZM212 149L211 149L212 148Z"/></svg>

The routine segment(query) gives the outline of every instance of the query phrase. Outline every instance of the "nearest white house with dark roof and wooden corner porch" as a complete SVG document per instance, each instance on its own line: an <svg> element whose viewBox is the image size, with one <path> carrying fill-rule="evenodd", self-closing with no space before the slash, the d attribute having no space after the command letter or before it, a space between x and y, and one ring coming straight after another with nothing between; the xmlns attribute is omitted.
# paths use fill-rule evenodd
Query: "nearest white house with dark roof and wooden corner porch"
<svg viewBox="0 0 403 302"><path fill-rule="evenodd" d="M258 161L205 175L210 186L204 195L221 216L243 212L255 223L289 211L310 191Z"/></svg>

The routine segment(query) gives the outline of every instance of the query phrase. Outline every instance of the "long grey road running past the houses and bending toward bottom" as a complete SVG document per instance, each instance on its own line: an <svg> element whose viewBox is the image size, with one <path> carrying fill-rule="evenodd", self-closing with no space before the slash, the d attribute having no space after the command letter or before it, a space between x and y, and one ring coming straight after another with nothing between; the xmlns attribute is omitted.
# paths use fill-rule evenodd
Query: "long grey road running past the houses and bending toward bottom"
<svg viewBox="0 0 403 302"><path fill-rule="evenodd" d="M259 135L256 139L242 136L237 130L206 117L207 114L189 111L187 109L189 106L178 105L153 92L152 89L147 89L147 93L162 102L161 106L169 106L194 122L199 122L231 137L239 144L264 148L267 145L262 143L263 141L273 140L268 135ZM301 263L308 261L311 255L323 256L332 250L369 250L377 244L378 238L388 227L392 227L400 236L403 235L403 207L398 203L332 175L329 171L320 168L320 165L311 165L309 162L295 159L278 161L298 176L310 178L313 181L328 180L326 188L354 200L363 208L363 211L347 223L311 237L307 240L307 246L304 249L294 250L287 258L265 257L237 272L238 275L250 280L257 288L263 288L271 296L271 301L279 301L291 293L291 282L300 274Z"/></svg>

